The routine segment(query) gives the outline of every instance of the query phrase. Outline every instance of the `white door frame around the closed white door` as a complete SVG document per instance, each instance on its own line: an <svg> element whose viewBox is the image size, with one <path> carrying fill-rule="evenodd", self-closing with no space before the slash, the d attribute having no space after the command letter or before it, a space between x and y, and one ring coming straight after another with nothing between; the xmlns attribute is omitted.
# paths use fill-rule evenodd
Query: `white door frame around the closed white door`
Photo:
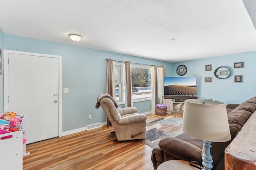
<svg viewBox="0 0 256 170"><path fill-rule="evenodd" d="M4 50L4 111L8 111L8 92L9 92L9 70L8 68L8 57L9 54L20 54L20 55L33 55L38 57L52 57L59 59L59 137L62 136L62 56L60 55L47 55L39 53L29 53L23 51L12 51Z"/></svg>

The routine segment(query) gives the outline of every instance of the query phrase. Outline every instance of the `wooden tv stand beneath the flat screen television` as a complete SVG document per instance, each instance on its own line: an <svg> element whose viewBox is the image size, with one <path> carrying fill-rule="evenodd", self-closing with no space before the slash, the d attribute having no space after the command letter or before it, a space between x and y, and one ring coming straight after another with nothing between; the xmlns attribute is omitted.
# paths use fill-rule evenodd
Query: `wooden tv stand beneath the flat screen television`
<svg viewBox="0 0 256 170"><path fill-rule="evenodd" d="M187 99L197 99L197 96L173 95L163 96L163 103L167 106L167 113L183 113L184 103Z"/></svg>

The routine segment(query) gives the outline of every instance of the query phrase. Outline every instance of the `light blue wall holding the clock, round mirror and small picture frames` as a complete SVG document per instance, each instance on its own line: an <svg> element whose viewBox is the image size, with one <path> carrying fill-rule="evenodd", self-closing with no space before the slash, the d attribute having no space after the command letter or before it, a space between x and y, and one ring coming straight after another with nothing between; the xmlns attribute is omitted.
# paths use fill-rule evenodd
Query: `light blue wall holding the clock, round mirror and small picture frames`
<svg viewBox="0 0 256 170"><path fill-rule="evenodd" d="M244 68L234 68L237 62L244 62ZM197 76L197 96L200 99L212 98L226 104L240 104L256 96L256 51L174 63L174 76L178 76L176 68L180 64L188 68L185 76ZM205 71L208 64L212 64L212 71ZM228 78L214 76L214 70L219 66L230 68ZM242 75L243 82L235 83L234 75ZM212 83L204 82L205 77L212 77Z"/></svg>

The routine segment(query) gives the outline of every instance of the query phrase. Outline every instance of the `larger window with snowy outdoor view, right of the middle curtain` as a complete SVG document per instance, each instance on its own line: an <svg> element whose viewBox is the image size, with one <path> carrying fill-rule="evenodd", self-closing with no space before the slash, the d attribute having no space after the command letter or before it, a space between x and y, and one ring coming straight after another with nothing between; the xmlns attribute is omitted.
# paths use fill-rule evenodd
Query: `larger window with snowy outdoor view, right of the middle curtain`
<svg viewBox="0 0 256 170"><path fill-rule="evenodd" d="M150 66L132 64L132 101L151 100Z"/></svg>

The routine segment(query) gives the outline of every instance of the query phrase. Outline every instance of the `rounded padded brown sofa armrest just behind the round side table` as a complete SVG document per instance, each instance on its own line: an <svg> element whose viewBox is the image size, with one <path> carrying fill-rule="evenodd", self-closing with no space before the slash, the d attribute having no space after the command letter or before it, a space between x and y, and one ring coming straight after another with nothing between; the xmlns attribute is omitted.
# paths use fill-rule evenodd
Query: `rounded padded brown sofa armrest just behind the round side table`
<svg viewBox="0 0 256 170"><path fill-rule="evenodd" d="M196 161L202 165L202 149L186 141L173 137L165 137L158 143L160 149L170 156L186 161Z"/></svg>

